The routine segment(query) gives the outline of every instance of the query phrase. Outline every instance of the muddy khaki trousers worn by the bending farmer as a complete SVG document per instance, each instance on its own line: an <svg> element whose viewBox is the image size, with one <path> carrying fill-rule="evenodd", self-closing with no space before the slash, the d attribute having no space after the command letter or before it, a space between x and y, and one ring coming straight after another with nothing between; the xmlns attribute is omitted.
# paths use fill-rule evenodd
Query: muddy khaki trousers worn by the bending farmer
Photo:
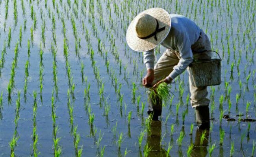
<svg viewBox="0 0 256 157"><path fill-rule="evenodd" d="M193 52L200 50L211 50L211 43L207 35L201 31L201 35L197 42L191 46ZM194 59L210 59L211 52L204 53L193 53ZM173 67L178 64L180 60L180 53L178 51L172 51L171 49L166 49L166 51L161 55L158 62L154 67L154 81L153 84L160 81L161 79L167 77L172 71ZM187 68L187 71L188 68ZM194 87L192 86L191 80L189 79L189 90L191 93L190 102L193 108L197 106L207 106L210 100L207 98L207 86L205 87Z"/></svg>

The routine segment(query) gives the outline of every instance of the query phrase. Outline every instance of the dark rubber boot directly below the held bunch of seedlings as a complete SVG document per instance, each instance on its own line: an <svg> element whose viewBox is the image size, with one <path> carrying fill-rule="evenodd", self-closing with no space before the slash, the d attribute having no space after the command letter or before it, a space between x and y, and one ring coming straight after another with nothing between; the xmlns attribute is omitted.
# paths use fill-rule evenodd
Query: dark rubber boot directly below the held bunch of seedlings
<svg viewBox="0 0 256 157"><path fill-rule="evenodd" d="M152 120L158 120L158 116L162 113L162 100L160 97L150 97L148 93L148 115L152 117Z"/></svg>

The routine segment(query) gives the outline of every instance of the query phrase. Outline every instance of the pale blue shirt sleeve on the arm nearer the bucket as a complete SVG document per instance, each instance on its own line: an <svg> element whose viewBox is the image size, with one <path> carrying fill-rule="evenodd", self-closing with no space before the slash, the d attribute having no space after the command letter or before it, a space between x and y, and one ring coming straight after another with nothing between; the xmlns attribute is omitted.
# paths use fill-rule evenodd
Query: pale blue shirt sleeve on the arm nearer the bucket
<svg viewBox="0 0 256 157"><path fill-rule="evenodd" d="M193 62L193 53L191 50L191 43L189 41L189 36L187 33L179 33L178 36L176 36L176 47L180 53L180 61L176 66L173 67L173 71L169 74L168 77L171 77L172 79L175 79L178 75L183 73L187 66L191 62ZM167 78L168 78L167 77Z"/></svg>

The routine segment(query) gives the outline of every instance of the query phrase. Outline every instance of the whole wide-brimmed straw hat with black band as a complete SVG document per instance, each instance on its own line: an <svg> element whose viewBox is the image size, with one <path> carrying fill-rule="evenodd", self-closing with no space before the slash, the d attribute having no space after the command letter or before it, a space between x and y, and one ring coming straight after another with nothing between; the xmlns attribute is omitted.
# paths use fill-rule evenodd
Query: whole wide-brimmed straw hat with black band
<svg viewBox="0 0 256 157"><path fill-rule="evenodd" d="M171 17L162 8L150 8L137 15L126 32L126 41L134 51L148 51L163 42L171 29Z"/></svg>

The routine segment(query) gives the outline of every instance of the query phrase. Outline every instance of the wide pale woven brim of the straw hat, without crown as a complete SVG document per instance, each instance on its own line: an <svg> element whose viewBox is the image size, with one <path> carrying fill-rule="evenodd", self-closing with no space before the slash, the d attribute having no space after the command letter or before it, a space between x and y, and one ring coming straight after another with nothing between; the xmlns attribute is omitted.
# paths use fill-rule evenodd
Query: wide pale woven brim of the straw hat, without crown
<svg viewBox="0 0 256 157"><path fill-rule="evenodd" d="M161 32L158 32L156 34L157 40L155 40L154 36L147 38L147 39L141 39L137 37L136 33L136 20L139 18L139 15L142 13L146 13L148 15L153 16L158 20L159 28L165 27L165 29ZM171 17L165 9L162 8L150 8L147 9L141 13L139 13L130 23L127 31L126 31L126 42L128 46L130 46L131 49L134 51L148 51L151 49L154 49L158 44L163 42L163 40L167 37L169 31L171 29Z"/></svg>

